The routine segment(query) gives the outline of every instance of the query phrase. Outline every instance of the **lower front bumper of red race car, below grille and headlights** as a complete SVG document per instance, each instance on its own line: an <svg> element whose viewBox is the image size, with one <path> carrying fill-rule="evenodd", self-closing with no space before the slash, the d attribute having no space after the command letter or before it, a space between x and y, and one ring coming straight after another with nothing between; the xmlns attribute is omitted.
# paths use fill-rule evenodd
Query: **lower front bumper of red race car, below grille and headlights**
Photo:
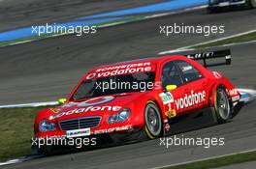
<svg viewBox="0 0 256 169"><path fill-rule="evenodd" d="M138 134L140 134L141 130L141 127L123 126L95 129L86 136L77 135L76 137L68 137L67 134L59 133L57 135L54 132L48 135L38 134L32 139L32 150L42 151L39 154L50 154L55 151L78 150L80 148L87 150L108 146L112 143L126 143L138 140Z"/></svg>

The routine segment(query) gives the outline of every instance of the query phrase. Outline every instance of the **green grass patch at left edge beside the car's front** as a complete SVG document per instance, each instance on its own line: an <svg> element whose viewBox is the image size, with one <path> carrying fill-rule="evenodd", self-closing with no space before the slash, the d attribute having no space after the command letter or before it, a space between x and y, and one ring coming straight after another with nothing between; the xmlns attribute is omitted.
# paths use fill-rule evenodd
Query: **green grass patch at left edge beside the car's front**
<svg viewBox="0 0 256 169"><path fill-rule="evenodd" d="M34 120L41 109L0 109L0 161L31 154Z"/></svg>

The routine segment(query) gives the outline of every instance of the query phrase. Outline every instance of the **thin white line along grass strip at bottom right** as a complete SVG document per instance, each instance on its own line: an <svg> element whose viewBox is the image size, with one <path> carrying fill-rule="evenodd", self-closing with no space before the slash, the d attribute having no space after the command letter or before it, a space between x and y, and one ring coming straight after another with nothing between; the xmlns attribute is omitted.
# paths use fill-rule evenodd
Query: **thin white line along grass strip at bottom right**
<svg viewBox="0 0 256 169"><path fill-rule="evenodd" d="M201 158L201 159L190 160L190 161L186 161L186 162L179 162L179 163L175 163L175 164L171 164L171 165L163 165L163 166L155 167L152 169L163 169L163 168L173 167L173 166L177 166L177 165L189 164L189 163L193 163L193 162L201 162L201 161L205 161L208 159L214 159L214 158L219 158L219 157L224 157L224 156L229 156L229 155L246 154L246 153L255 152L255 151L256 151L256 149L252 149L252 150L241 151L241 152L226 154L226 155L215 155L215 156L205 157L205 158Z"/></svg>

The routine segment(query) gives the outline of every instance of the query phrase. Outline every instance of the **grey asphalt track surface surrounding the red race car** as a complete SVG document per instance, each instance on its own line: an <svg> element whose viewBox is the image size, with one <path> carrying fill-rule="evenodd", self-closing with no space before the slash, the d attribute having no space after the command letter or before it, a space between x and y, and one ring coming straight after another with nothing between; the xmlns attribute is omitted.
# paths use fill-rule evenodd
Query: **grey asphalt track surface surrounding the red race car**
<svg viewBox="0 0 256 169"><path fill-rule="evenodd" d="M159 25L225 24L224 36L255 29L256 11L176 14L99 30L96 36L65 36L0 48L0 102L14 103L57 99L68 95L82 73L98 64L153 56L218 36L159 35ZM243 15L242 17L240 15ZM232 66L218 67L238 87L256 89L256 43L231 46ZM256 103L243 107L228 124L182 133L185 137L225 137L225 146L166 149L150 140L69 155L48 156L4 166L5 168L150 168L214 155L255 149ZM182 134L177 136L181 137Z"/></svg>

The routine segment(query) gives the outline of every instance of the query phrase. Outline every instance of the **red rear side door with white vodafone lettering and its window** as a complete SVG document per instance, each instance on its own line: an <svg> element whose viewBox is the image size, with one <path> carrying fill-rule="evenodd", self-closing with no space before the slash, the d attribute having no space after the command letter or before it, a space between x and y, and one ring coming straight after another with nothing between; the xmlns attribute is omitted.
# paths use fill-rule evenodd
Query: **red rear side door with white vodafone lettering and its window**
<svg viewBox="0 0 256 169"><path fill-rule="evenodd" d="M175 100L176 110L189 113L205 107L208 102L207 78L188 62L176 60L175 64L183 81L178 90L182 95Z"/></svg>

